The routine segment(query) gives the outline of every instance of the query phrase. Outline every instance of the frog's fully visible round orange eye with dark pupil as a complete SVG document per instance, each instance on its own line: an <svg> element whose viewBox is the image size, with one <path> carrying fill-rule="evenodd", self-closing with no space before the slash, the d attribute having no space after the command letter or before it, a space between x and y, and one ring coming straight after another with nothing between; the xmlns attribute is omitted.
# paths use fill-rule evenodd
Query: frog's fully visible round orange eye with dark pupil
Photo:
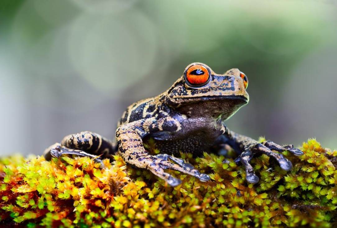
<svg viewBox="0 0 337 228"><path fill-rule="evenodd" d="M203 65L193 65L187 69L186 80L191 85L202 85L209 80L208 69Z"/></svg>

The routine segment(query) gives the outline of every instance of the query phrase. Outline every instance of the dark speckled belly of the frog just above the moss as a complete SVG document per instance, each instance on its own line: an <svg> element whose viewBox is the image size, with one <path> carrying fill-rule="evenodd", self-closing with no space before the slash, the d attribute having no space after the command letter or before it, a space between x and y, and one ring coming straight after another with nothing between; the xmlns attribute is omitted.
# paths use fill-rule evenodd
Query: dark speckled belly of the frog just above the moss
<svg viewBox="0 0 337 228"><path fill-rule="evenodd" d="M156 148L160 153L179 154L179 152L193 153L194 156L200 156L207 151L212 145L211 142L205 141L202 136L190 136L176 140L155 140Z"/></svg>

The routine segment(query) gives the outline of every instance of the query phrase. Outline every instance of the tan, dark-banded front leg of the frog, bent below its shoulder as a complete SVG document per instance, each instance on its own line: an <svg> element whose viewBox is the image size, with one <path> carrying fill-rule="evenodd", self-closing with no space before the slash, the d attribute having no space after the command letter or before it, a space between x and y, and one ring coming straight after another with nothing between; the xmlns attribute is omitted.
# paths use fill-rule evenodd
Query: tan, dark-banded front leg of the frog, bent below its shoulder
<svg viewBox="0 0 337 228"><path fill-rule="evenodd" d="M117 145L121 156L126 163L138 168L150 170L156 176L164 179L170 186L174 187L181 183L181 180L164 172L165 169L177 170L197 177L201 181L209 180L207 174L200 173L191 165L183 163L181 159L175 159L166 154L150 155L143 146L143 138L150 133L172 130L174 119L171 117L156 120L155 118L137 120L121 125L116 130ZM178 163L168 161L171 159Z"/></svg>

